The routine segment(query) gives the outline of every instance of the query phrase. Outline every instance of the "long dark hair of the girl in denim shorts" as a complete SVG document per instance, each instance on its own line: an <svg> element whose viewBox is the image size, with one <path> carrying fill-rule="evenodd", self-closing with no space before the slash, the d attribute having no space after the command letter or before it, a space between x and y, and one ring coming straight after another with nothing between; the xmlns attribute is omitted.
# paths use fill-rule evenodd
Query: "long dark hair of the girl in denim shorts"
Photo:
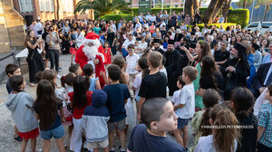
<svg viewBox="0 0 272 152"><path fill-rule="evenodd" d="M51 128L57 115L57 98L51 81L43 80L37 86L37 99L34 107L38 108L41 130Z"/></svg>

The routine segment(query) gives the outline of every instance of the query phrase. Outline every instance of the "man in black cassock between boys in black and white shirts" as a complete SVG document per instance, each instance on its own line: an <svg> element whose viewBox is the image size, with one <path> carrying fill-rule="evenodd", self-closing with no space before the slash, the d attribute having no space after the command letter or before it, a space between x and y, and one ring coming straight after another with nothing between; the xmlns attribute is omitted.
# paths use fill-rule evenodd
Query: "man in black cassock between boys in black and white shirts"
<svg viewBox="0 0 272 152"><path fill-rule="evenodd" d="M167 45L167 52L164 52L166 62L164 64L167 71L169 95L172 96L175 90L178 90L177 81L179 77L179 60L180 52L174 48L174 40L169 40Z"/></svg>

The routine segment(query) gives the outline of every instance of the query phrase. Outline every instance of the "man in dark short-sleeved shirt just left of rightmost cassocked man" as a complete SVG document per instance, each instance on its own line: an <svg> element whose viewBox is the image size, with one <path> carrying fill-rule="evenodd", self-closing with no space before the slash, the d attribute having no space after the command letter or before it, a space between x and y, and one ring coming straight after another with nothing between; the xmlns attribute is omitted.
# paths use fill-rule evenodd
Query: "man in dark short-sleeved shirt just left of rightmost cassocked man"
<svg viewBox="0 0 272 152"><path fill-rule="evenodd" d="M229 52L227 51L228 42L222 41L219 51L214 52L214 59L218 65L222 65L229 59Z"/></svg>

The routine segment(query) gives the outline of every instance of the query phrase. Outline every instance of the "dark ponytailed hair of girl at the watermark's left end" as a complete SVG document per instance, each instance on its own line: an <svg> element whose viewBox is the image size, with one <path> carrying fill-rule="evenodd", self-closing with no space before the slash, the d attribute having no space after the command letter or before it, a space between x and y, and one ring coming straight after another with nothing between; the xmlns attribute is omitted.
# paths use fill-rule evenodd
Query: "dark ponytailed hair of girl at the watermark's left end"
<svg viewBox="0 0 272 152"><path fill-rule="evenodd" d="M199 124L199 131L202 133L201 136L211 135L211 128L202 128L202 126L209 126L209 110L215 105L219 104L220 95L217 90L209 89L203 94L203 103L205 105L205 112L202 115L202 119Z"/></svg>

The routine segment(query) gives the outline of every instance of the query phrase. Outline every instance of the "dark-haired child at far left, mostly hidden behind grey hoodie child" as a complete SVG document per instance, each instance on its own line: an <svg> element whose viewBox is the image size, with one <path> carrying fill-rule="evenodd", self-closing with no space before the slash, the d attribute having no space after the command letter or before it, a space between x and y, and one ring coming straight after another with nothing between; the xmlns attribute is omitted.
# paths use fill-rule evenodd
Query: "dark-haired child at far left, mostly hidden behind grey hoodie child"
<svg viewBox="0 0 272 152"><path fill-rule="evenodd" d="M14 64L14 63L10 63L5 66L5 73L8 76L8 78L11 78L12 76L15 76L15 75L22 74L21 68L17 64ZM6 87L7 93L10 94L12 92L12 89L10 88L9 80L6 81L5 87ZM16 141L19 141L19 142L22 141L22 138L20 138L20 136L19 136L18 128L16 128L16 125L15 125L15 137L14 138Z"/></svg>

